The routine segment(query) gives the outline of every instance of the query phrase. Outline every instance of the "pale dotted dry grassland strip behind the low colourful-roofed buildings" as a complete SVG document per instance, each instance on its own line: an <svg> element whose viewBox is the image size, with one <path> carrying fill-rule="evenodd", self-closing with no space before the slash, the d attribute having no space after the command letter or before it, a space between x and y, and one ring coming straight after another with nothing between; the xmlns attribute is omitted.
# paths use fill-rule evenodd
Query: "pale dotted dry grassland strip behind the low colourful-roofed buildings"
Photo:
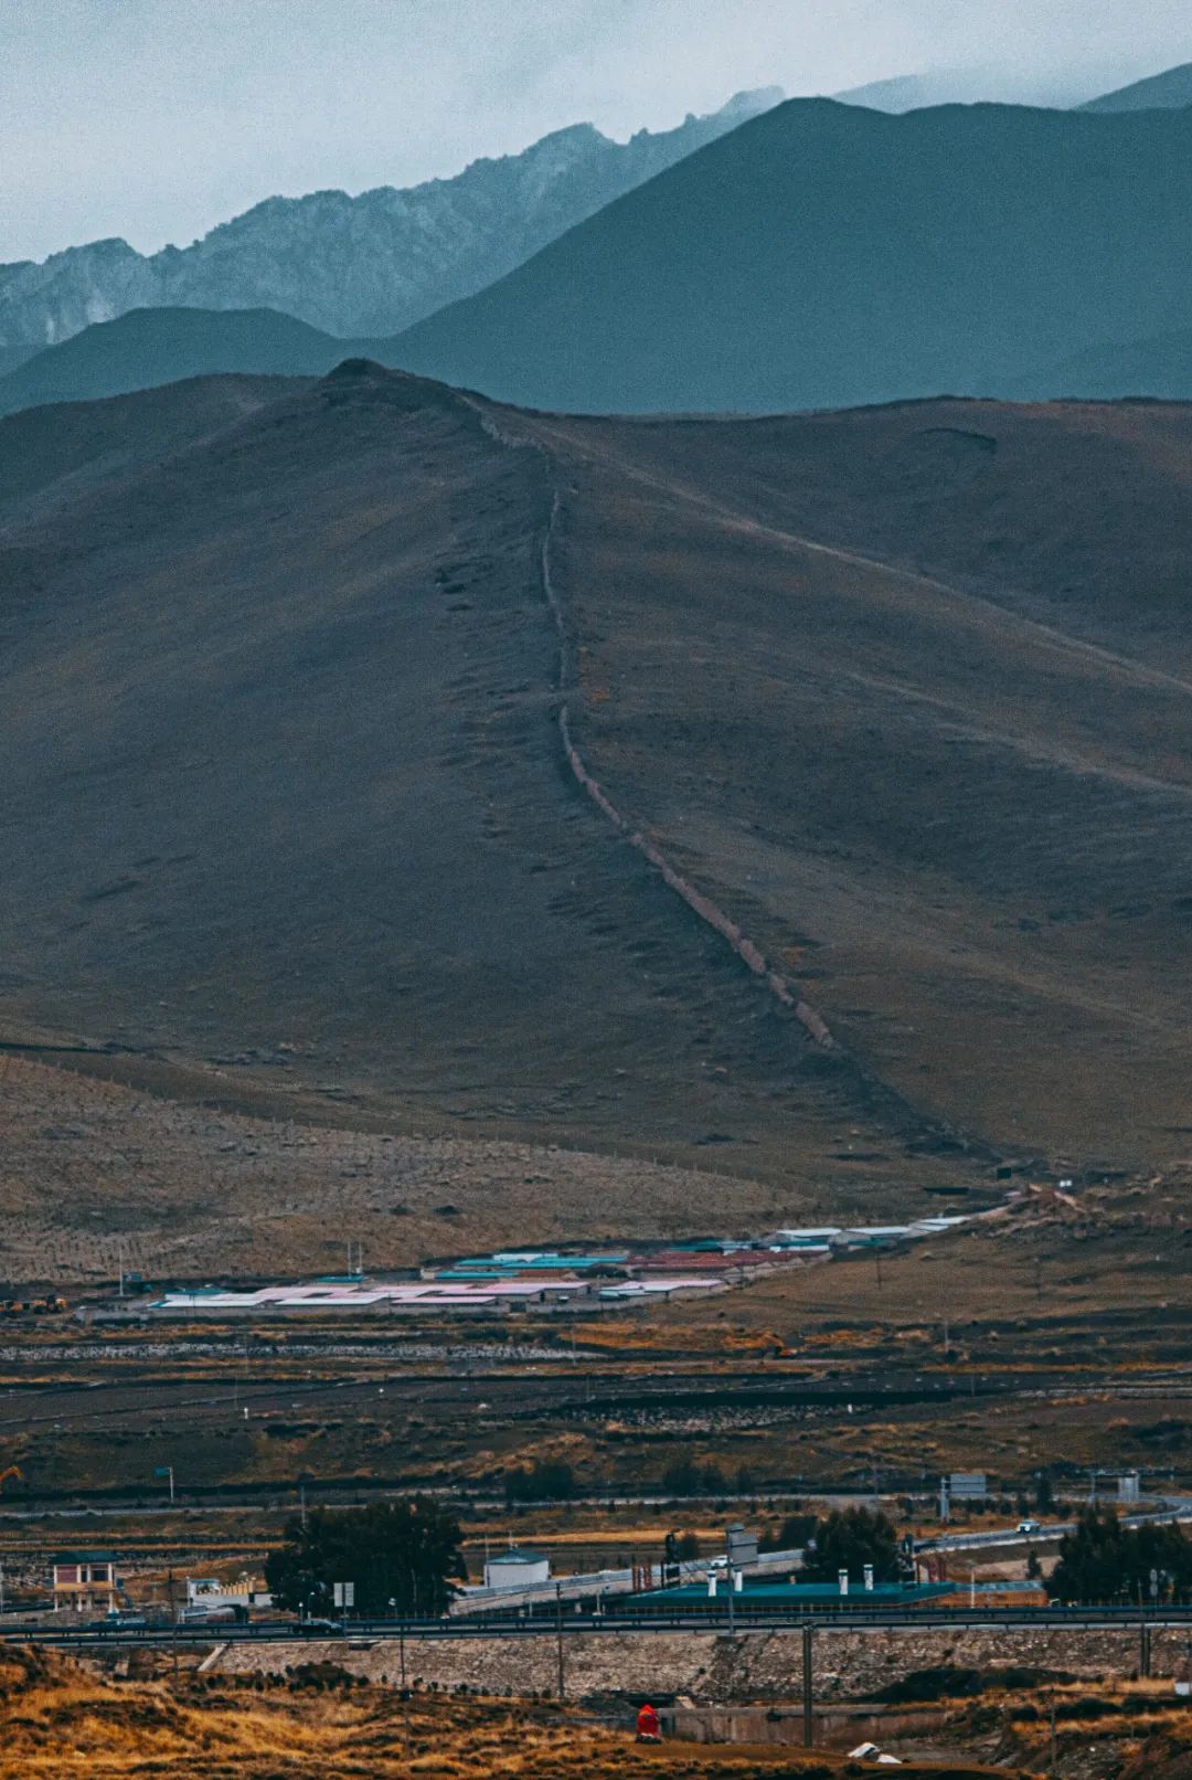
<svg viewBox="0 0 1192 1780"><path fill-rule="evenodd" d="M217 1084L212 1084L217 1091ZM14 1282L285 1276L509 1241L758 1232L804 1189L553 1145L251 1118L0 1059L4 1271Z"/></svg>

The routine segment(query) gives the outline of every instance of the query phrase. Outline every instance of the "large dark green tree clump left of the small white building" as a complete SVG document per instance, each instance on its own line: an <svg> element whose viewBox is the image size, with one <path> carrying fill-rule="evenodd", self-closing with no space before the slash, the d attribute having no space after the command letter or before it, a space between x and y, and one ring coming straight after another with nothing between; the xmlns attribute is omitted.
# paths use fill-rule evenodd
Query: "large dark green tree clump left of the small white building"
<svg viewBox="0 0 1192 1780"><path fill-rule="evenodd" d="M459 1522L427 1495L404 1502L331 1511L315 1508L286 1524L285 1543L265 1559L265 1581L279 1607L326 1614L333 1584L356 1584L356 1613L438 1616L454 1581L466 1577Z"/></svg>

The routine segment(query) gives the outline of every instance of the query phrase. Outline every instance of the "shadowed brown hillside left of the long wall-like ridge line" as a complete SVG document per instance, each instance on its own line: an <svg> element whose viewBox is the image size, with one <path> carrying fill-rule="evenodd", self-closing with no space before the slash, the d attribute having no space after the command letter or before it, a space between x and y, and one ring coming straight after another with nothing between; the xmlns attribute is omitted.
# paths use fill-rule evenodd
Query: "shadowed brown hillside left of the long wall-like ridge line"
<svg viewBox="0 0 1192 1780"><path fill-rule="evenodd" d="M158 400L130 399L130 433ZM929 1125L818 1052L568 783L552 484L484 420L347 367L23 502L0 1031L324 1116L715 1141L769 1178L808 1155L856 1180L849 1146L891 1141L891 1180L938 1178L904 1152ZM28 424L0 422L0 490Z"/></svg>

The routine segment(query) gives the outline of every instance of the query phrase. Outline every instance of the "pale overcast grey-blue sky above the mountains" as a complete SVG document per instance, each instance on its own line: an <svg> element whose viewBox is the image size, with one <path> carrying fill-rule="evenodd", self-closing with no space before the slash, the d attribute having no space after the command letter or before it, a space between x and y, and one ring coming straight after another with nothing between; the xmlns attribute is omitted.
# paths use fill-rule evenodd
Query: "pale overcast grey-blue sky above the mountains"
<svg viewBox="0 0 1192 1780"><path fill-rule="evenodd" d="M457 173L740 87L932 68L1089 93L1192 61L1190 0L0 0L0 260L180 246L274 192ZM991 84L995 75L991 75Z"/></svg>

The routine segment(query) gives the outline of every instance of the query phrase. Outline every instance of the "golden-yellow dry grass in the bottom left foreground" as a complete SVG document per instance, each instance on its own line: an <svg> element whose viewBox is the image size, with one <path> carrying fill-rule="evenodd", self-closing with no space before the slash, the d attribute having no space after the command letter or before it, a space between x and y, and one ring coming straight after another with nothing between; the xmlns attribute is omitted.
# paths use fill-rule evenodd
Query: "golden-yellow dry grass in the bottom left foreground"
<svg viewBox="0 0 1192 1780"><path fill-rule="evenodd" d="M671 1780L829 1780L842 1768L836 1755L781 1748L639 1748L624 1732L543 1702L402 1700L393 1689L336 1684L334 1673L294 1687L246 1680L116 1680L5 1652L0 1780L619 1780L630 1760ZM914 1780L923 1771L904 1773ZM977 1780L987 1769L948 1773Z"/></svg>

